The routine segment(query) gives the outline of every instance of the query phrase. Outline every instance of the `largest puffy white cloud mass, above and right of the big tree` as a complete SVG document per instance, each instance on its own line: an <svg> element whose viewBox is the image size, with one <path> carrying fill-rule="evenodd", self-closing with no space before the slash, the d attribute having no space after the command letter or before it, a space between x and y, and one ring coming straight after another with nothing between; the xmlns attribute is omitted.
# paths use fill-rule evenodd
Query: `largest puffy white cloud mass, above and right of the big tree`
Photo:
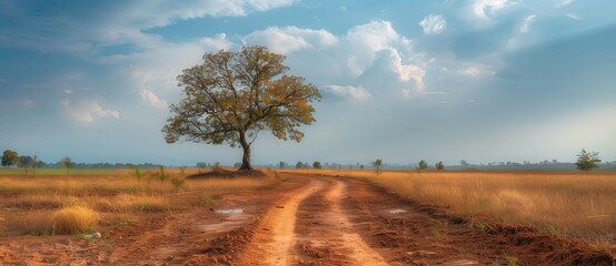
<svg viewBox="0 0 616 266"><path fill-rule="evenodd" d="M322 29L270 27L251 32L241 41L286 54L291 70L309 80L356 84L327 86L338 96L366 101L372 93L381 94L379 90L424 88L426 71L420 54L414 51L413 41L400 35L389 21L370 21L339 35ZM384 76L391 82L384 84Z"/></svg>

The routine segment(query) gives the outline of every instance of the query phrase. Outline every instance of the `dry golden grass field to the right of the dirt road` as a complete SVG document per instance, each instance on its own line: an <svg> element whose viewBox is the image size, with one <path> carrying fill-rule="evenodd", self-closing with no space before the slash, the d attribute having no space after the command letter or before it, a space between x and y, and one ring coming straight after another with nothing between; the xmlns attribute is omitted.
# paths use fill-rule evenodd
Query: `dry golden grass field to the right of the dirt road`
<svg viewBox="0 0 616 266"><path fill-rule="evenodd" d="M456 212L489 214L509 224L531 224L550 233L616 243L614 172L395 172L298 170L364 177L398 195Z"/></svg>

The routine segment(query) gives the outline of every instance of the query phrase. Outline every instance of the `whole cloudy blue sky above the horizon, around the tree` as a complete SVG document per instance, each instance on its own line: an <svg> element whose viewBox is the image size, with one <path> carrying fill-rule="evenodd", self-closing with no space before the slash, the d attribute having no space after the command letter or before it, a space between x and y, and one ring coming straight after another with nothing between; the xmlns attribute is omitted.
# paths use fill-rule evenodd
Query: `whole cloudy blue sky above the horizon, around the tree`
<svg viewBox="0 0 616 266"><path fill-rule="evenodd" d="M240 161L166 144L175 78L267 45L324 99L254 163L616 160L616 2L2 1L0 149L48 162Z"/></svg>

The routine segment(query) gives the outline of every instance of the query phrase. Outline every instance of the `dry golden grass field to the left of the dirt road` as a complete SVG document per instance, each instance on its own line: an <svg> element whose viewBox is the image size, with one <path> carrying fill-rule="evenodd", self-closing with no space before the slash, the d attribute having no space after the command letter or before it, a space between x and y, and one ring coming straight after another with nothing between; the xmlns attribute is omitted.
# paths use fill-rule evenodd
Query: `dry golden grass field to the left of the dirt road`
<svg viewBox="0 0 616 266"><path fill-rule="evenodd" d="M148 215L207 205L216 195L272 184L275 177L185 180L196 170L0 172L0 236L92 232ZM203 170L210 171L210 170Z"/></svg>

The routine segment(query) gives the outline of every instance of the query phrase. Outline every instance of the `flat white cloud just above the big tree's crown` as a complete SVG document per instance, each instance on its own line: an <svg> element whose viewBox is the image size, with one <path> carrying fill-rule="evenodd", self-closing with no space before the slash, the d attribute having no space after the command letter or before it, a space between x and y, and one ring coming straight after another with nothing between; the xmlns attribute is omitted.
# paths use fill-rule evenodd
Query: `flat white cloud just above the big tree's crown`
<svg viewBox="0 0 616 266"><path fill-rule="evenodd" d="M270 27L246 35L242 41L248 44L262 44L274 52L288 54L302 49L327 48L338 42L338 39L326 30Z"/></svg>

